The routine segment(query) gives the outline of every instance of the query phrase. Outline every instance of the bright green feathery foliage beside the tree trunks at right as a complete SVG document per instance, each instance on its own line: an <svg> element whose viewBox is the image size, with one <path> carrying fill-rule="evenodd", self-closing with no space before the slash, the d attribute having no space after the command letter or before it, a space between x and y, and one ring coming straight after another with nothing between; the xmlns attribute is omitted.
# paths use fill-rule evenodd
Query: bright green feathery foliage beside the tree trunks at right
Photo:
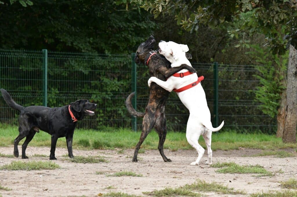
<svg viewBox="0 0 297 197"><path fill-rule="evenodd" d="M280 93L285 89L281 83L284 76L279 74L279 70L285 71L288 60L287 54L280 58L279 55L269 53L268 48L263 49L259 45L251 45L251 47L254 51L247 52L247 54L255 58L256 62L261 65L256 67L260 75L254 75L259 79L260 86L251 91L255 92L255 101L262 103L258 105L258 108L263 113L274 117L278 113Z"/></svg>

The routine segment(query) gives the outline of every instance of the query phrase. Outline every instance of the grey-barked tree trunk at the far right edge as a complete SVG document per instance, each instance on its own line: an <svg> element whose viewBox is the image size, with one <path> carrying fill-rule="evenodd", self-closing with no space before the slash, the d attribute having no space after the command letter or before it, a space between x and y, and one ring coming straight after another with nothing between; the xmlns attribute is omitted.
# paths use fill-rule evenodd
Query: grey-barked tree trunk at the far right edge
<svg viewBox="0 0 297 197"><path fill-rule="evenodd" d="M290 45L287 68L287 113L282 141L296 143L297 126L297 50Z"/></svg>

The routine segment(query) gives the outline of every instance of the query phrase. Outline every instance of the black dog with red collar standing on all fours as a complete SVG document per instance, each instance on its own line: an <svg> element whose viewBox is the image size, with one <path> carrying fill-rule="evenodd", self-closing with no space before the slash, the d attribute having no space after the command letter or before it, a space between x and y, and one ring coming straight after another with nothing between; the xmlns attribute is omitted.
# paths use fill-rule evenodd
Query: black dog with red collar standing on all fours
<svg viewBox="0 0 297 197"><path fill-rule="evenodd" d="M22 159L27 159L26 148L39 129L47 132L52 136L50 147L50 160L57 159L55 157L56 143L59 137L66 137L68 155L73 158L72 139L76 126L76 121L82 120L85 115L94 115L94 109L97 104L90 103L88 100L77 100L70 105L59 108L48 108L44 106L23 107L18 105L5 90L1 89L2 96L7 105L20 111L19 116L19 132L14 141L15 157L19 156L18 143L24 137L25 142L22 145Z"/></svg>

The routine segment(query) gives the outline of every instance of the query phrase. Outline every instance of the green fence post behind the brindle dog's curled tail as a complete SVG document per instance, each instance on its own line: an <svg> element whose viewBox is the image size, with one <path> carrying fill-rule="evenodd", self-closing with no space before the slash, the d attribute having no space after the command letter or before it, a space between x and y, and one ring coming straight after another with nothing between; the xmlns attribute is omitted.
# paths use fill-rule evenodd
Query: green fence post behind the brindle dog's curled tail
<svg viewBox="0 0 297 197"><path fill-rule="evenodd" d="M132 99L132 105L134 109L136 110L136 103L137 103L137 85L136 85L136 79L137 79L137 73L136 73L136 63L134 61L135 53L131 54L131 62L132 62L132 92L135 92L135 95ZM137 117L132 116L132 130L137 131Z"/></svg>

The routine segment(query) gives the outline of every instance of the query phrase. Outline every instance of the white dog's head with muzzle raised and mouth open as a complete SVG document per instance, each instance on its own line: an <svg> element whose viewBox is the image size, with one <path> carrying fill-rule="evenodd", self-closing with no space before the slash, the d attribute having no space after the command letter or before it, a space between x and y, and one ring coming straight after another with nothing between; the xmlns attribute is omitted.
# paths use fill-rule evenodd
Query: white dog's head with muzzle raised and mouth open
<svg viewBox="0 0 297 197"><path fill-rule="evenodd" d="M179 58L187 58L186 52L189 51L189 47L186 44L177 44L175 42L160 41L159 42L159 53L166 57L170 62L176 62Z"/></svg>

